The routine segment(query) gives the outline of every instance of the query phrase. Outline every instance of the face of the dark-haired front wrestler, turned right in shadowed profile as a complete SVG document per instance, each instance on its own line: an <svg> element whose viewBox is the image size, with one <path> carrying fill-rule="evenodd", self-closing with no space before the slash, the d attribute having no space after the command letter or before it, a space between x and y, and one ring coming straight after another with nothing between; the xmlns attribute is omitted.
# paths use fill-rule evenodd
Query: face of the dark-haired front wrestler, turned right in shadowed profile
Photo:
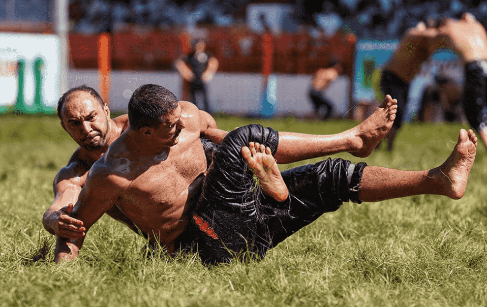
<svg viewBox="0 0 487 307"><path fill-rule="evenodd" d="M154 139L159 146L174 146L179 142L180 133L185 125L182 122L181 106L162 116L161 125L154 129Z"/></svg>

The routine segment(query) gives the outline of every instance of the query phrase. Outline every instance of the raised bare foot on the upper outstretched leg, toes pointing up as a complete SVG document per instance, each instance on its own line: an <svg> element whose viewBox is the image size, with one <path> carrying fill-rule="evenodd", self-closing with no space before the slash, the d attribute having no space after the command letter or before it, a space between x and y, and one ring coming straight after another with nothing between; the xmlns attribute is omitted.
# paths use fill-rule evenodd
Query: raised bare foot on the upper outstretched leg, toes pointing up
<svg viewBox="0 0 487 307"><path fill-rule="evenodd" d="M392 128L397 110L398 101L387 95L371 116L350 129L354 149L349 152L355 157L368 157Z"/></svg>

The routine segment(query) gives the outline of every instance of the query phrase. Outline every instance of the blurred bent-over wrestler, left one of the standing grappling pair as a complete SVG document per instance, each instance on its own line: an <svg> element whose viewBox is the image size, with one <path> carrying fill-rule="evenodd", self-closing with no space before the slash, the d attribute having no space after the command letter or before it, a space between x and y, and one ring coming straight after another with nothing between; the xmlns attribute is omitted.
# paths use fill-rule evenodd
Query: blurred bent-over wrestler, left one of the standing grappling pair
<svg viewBox="0 0 487 307"><path fill-rule="evenodd" d="M398 113L386 137L388 150L392 150L395 136L403 123L409 83L420 71L421 64L436 50L432 48L432 40L436 38L437 33L436 28L426 27L423 22L419 22L415 27L408 29L399 42L398 49L384 65L380 82L382 92L398 100Z"/></svg>

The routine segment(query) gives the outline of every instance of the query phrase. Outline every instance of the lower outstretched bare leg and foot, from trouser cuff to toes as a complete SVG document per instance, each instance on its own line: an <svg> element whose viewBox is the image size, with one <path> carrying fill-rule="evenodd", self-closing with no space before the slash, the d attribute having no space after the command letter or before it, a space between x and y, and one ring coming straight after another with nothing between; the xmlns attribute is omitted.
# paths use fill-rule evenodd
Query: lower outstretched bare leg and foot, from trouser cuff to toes
<svg viewBox="0 0 487 307"><path fill-rule="evenodd" d="M439 167L424 171L402 171L366 167L360 181L361 201L420 194L436 194L460 199L465 193L468 174L475 160L477 138L472 130L462 129L451 155Z"/></svg>

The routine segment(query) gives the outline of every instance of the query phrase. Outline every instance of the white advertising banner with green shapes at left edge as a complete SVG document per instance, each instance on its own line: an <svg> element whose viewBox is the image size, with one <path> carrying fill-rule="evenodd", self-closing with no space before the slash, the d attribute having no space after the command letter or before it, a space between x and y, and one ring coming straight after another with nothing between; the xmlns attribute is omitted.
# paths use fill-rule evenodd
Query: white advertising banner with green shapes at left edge
<svg viewBox="0 0 487 307"><path fill-rule="evenodd" d="M0 33L0 112L54 113L59 57L55 35Z"/></svg>

